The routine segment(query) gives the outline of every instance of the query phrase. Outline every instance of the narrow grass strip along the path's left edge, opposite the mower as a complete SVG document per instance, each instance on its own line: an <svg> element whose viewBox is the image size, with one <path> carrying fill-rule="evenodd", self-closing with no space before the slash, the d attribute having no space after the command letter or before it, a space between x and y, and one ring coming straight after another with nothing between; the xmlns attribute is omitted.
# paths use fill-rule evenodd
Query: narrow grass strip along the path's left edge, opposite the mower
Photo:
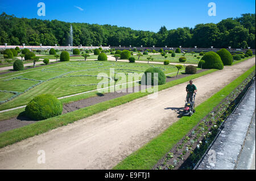
<svg viewBox="0 0 256 181"><path fill-rule="evenodd" d="M207 71L203 71L198 74L190 75L188 77L176 79L171 82L167 82L165 85L159 86L159 91L167 89L169 87L178 85L183 82L187 82L190 79L195 79L201 77L203 75L212 73L217 71L216 69L210 69ZM14 144L15 142L22 141L28 137L32 137L35 135L39 135L45 132L48 132L57 127L61 127L63 125L67 125L69 123L73 123L74 121L83 119L85 117L92 116L96 113L108 110L109 108L120 106L121 104L125 104L131 102L132 100L141 98L143 96L152 94L150 92L135 92L132 94L128 94L125 96L121 96L119 98L115 98L112 100L108 100L106 102L94 104L93 106L81 108L80 110L76 110L73 112L66 113L64 115L59 115L56 117L51 117L46 120L38 121L34 124L26 125L21 128L16 128L7 132L0 133L0 148L4 146Z"/></svg>

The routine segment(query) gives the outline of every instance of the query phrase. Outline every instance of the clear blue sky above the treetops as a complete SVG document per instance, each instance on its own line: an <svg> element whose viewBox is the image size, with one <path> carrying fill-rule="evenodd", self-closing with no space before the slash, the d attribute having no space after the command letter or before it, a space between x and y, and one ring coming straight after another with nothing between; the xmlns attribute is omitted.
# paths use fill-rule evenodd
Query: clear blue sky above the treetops
<svg viewBox="0 0 256 181"><path fill-rule="evenodd" d="M39 2L46 5L46 16L38 16ZM216 3L216 16L209 16L208 3ZM57 19L64 22L111 24L134 30L158 32L161 26L168 30L195 27L199 23L218 23L222 19L255 13L252 0L1 0L0 13L18 18Z"/></svg>

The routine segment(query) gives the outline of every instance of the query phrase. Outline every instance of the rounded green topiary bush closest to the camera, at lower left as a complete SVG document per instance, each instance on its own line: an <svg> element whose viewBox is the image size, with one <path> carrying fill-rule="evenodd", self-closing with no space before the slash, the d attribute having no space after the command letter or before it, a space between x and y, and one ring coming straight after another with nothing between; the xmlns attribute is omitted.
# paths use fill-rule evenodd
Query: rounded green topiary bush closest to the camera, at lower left
<svg viewBox="0 0 256 181"><path fill-rule="evenodd" d="M42 94L32 99L25 108L28 117L35 120L48 119L61 115L63 106L55 96L51 94Z"/></svg>

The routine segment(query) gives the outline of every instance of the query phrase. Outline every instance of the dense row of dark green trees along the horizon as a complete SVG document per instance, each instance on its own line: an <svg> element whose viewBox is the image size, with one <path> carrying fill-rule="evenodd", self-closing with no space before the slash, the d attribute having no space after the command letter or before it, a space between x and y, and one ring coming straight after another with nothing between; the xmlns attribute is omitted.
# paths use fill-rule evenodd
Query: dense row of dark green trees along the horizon
<svg viewBox="0 0 256 181"><path fill-rule="evenodd" d="M59 20L16 18L3 12L0 15L0 44L9 45L68 45L71 23ZM197 24L195 28L159 32L138 31L109 24L72 23L73 45L123 45L129 47L194 47L241 48L245 42L255 48L255 14L242 14L239 18L228 18L221 22ZM23 53L24 54L24 53Z"/></svg>

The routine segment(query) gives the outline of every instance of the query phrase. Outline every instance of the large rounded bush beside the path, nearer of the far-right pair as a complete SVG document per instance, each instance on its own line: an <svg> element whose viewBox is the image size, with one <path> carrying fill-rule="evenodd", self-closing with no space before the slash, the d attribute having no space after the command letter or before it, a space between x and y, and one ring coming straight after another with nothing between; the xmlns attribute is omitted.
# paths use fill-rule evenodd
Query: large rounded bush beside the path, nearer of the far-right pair
<svg viewBox="0 0 256 181"><path fill-rule="evenodd" d="M203 64L203 69L220 69L224 68L224 65L221 61L221 57L215 52L207 52L201 58L205 63Z"/></svg>

